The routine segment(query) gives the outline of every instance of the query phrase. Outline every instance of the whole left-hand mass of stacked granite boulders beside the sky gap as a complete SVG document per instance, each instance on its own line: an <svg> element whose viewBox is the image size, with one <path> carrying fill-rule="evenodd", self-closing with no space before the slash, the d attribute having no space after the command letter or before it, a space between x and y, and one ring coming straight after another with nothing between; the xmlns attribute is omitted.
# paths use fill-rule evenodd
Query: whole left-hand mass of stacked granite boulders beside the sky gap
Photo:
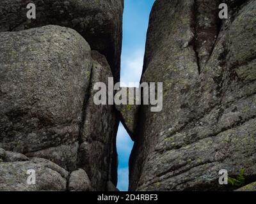
<svg viewBox="0 0 256 204"><path fill-rule="evenodd" d="M36 19L26 17L28 3ZM119 0L1 1L2 191L116 186L119 116L114 105L94 105L93 85L119 80L123 8Z"/></svg>

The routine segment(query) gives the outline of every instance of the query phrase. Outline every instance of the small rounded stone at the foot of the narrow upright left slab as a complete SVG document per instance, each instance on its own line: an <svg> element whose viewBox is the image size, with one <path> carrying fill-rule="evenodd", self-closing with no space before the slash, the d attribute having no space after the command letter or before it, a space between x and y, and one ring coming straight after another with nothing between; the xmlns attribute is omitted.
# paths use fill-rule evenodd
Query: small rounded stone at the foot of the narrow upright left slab
<svg viewBox="0 0 256 204"><path fill-rule="evenodd" d="M70 173L68 179L68 191L90 191L92 189L90 179L84 170L76 170Z"/></svg>

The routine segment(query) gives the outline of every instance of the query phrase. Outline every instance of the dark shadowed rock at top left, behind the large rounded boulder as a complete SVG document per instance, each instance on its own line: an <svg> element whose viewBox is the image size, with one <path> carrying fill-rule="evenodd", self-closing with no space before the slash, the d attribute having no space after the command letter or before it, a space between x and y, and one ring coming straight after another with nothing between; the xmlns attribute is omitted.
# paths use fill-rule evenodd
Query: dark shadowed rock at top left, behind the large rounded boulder
<svg viewBox="0 0 256 204"><path fill-rule="evenodd" d="M36 6L36 19L27 18L29 3ZM118 81L123 9L124 0L1 0L0 32L44 25L75 29L93 50L106 55Z"/></svg>

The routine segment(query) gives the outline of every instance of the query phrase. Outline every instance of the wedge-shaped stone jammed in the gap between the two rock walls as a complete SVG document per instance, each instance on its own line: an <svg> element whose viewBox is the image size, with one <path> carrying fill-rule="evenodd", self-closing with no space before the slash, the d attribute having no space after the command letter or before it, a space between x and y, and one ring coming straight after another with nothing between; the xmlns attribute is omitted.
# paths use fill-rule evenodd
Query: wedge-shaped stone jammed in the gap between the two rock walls
<svg viewBox="0 0 256 204"><path fill-rule="evenodd" d="M138 111L140 107L140 105L138 105L138 102L136 102L136 93L140 93L138 88L120 87L120 91L115 94L115 96L118 96L120 100L122 99L123 94L124 96L127 96L124 99L124 104L115 104L115 107L116 110L118 110L118 112L120 113L120 119L122 121L122 124L124 125L127 133L129 133L129 135L131 136L132 140L134 140L135 138L134 133L136 131L136 125L138 124ZM137 96L140 95L137 94Z"/></svg>

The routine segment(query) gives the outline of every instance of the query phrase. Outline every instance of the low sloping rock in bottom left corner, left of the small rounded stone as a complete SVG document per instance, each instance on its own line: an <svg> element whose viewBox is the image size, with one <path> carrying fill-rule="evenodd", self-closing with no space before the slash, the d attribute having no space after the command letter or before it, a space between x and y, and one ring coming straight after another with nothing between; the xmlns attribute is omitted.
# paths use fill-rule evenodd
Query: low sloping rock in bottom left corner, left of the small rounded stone
<svg viewBox="0 0 256 204"><path fill-rule="evenodd" d="M24 155L3 149L0 149L0 159L0 191L66 190L68 171L51 161L42 158L26 159ZM30 175L28 170L35 170L35 185L27 182Z"/></svg>

